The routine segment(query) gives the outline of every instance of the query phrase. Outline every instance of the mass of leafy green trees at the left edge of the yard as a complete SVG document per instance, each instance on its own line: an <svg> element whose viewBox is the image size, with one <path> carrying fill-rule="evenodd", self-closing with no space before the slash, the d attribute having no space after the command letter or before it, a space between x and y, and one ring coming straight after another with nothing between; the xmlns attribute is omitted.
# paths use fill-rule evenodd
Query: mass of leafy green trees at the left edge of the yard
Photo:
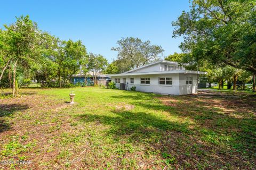
<svg viewBox="0 0 256 170"><path fill-rule="evenodd" d="M6 75L12 79L7 84L10 87L16 75L22 73L23 79L36 78L41 87L55 87L56 84L68 87L70 77L88 63L86 48L81 40L62 41L51 36L39 30L28 15L21 16L15 23L4 27L5 30L0 30L0 67L4 68L0 81L2 75L5 77L4 83L0 84L2 86L7 84ZM11 69L6 69L7 66ZM4 73L5 69L9 74ZM13 88L16 89L17 87Z"/></svg>

